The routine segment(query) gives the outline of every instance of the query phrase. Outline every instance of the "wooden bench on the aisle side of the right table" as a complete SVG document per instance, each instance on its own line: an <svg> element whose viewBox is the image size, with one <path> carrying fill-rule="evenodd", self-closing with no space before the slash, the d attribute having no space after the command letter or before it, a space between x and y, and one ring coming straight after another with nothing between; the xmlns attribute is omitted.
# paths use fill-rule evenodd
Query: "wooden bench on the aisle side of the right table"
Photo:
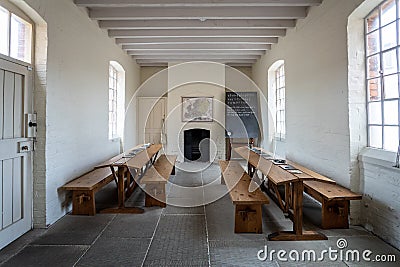
<svg viewBox="0 0 400 267"><path fill-rule="evenodd" d="M235 233L262 233L263 204L269 199L260 188L249 192L251 177L239 162L220 161L222 177L228 187L229 195L235 205Z"/></svg>

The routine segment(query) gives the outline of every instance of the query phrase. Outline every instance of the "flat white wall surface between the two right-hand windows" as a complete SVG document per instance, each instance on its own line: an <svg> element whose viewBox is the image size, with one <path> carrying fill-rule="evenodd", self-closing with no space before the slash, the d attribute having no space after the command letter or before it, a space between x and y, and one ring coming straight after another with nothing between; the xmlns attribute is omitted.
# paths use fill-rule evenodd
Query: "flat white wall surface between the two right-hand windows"
<svg viewBox="0 0 400 267"><path fill-rule="evenodd" d="M311 8L253 68L254 80L268 94L269 67L285 61L286 156L347 187L347 18L360 2L325 0Z"/></svg>

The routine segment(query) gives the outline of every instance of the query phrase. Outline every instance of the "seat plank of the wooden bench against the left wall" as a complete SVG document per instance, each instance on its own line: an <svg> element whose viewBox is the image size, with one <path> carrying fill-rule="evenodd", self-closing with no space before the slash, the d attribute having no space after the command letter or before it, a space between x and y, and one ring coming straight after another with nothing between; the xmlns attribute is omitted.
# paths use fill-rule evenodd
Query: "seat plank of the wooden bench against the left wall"
<svg viewBox="0 0 400 267"><path fill-rule="evenodd" d="M97 191L114 179L110 168L101 168L90 171L61 188L65 190L94 190Z"/></svg>

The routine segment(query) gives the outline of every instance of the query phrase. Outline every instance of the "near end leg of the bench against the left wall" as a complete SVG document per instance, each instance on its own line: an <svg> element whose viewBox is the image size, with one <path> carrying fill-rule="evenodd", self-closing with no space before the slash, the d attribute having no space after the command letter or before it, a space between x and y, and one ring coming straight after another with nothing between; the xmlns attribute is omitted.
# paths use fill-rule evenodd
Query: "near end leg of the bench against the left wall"
<svg viewBox="0 0 400 267"><path fill-rule="evenodd" d="M72 193L73 215L95 215L96 206L93 191L74 190Z"/></svg>

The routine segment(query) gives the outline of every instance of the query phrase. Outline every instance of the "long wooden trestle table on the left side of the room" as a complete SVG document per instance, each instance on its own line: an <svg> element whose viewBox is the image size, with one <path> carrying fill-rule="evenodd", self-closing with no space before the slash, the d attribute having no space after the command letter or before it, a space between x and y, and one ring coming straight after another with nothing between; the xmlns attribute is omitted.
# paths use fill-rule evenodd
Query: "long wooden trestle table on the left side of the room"
<svg viewBox="0 0 400 267"><path fill-rule="evenodd" d="M152 144L143 148L136 154L132 154L142 146L136 146L129 151L107 160L95 168L111 168L118 188L118 206L101 210L101 213L143 213L144 210L138 207L126 207L125 199L129 197L136 187L137 180L146 172L147 168L154 163L162 145ZM115 171L117 167L118 171ZM126 178L126 179L125 179ZM125 192L126 191L126 192Z"/></svg>

